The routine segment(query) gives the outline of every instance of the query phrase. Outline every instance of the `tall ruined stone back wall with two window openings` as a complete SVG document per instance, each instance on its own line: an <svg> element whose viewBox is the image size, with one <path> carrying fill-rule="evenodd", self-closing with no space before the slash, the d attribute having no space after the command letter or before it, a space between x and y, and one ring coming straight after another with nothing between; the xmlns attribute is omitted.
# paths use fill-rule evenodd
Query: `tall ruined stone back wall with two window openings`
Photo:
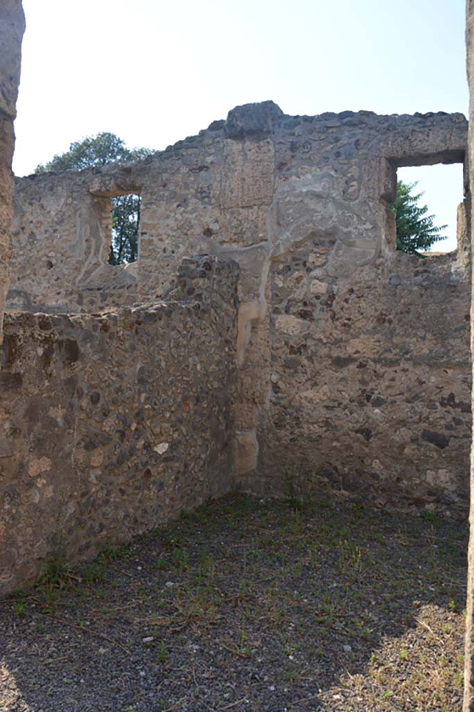
<svg viewBox="0 0 474 712"><path fill-rule="evenodd" d="M10 304L91 311L171 295L183 256L240 266L235 483L467 508L468 195L458 250L395 250L397 167L463 162L463 115L232 110L124 166L17 179ZM106 264L139 192L134 265ZM446 304L449 308L446 309Z"/></svg>

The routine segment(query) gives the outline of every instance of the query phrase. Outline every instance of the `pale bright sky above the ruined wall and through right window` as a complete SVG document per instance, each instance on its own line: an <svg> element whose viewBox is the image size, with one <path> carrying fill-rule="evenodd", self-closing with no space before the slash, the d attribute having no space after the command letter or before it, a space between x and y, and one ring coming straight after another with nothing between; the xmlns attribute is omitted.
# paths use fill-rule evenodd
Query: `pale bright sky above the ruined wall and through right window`
<svg viewBox="0 0 474 712"><path fill-rule="evenodd" d="M266 99L288 114L468 110L464 0L23 5L18 175L99 131L161 150L236 105ZM417 179L409 170L406 179ZM448 223L453 248L460 167L438 169L441 188L429 177L436 170L423 169L418 189Z"/></svg>

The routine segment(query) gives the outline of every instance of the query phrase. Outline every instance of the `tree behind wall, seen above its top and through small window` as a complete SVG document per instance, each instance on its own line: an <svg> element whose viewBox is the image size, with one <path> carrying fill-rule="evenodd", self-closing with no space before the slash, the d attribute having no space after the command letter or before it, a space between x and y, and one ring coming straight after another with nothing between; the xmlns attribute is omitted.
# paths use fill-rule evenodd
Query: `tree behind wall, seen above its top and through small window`
<svg viewBox="0 0 474 712"><path fill-rule="evenodd" d="M73 141L69 150L55 155L45 164L39 164L35 173L50 171L82 170L107 163L124 163L149 156L149 148L126 147L115 134L102 131L96 136L87 136ZM134 262L138 253L138 233L141 197L138 194L119 195L112 198L112 239L109 264Z"/></svg>

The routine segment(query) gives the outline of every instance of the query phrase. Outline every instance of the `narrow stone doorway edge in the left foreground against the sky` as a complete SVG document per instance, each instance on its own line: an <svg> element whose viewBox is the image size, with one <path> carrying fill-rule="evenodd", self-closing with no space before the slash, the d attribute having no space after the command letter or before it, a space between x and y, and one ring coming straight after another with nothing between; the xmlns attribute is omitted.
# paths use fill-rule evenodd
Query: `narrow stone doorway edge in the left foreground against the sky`
<svg viewBox="0 0 474 712"><path fill-rule="evenodd" d="M11 197L14 153L14 118L20 81L21 39L25 18L21 0L4 0L0 4L0 342L4 302L8 288L10 254Z"/></svg>

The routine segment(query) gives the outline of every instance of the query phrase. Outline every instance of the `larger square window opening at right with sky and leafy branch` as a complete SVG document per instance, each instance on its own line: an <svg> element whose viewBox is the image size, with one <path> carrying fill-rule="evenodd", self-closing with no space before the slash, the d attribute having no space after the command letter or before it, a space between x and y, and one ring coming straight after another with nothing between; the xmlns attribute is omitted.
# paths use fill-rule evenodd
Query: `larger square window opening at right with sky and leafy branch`
<svg viewBox="0 0 474 712"><path fill-rule="evenodd" d="M425 256L456 251L463 242L458 206L463 203L463 164L397 169L397 249Z"/></svg>

